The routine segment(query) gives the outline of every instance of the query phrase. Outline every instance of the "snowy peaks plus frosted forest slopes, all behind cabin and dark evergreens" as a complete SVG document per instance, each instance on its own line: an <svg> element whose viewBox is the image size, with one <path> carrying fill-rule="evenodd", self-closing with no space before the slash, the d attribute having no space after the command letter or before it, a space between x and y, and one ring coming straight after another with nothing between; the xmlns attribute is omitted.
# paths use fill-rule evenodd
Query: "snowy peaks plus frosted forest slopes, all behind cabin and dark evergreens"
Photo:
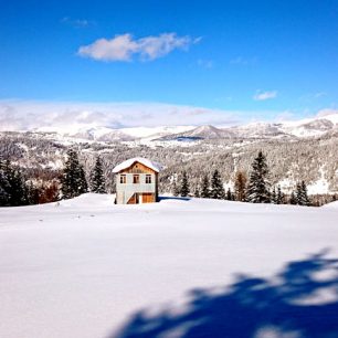
<svg viewBox="0 0 338 338"><path fill-rule="evenodd" d="M108 128L88 126L67 130L0 133L0 156L24 168L28 177L57 178L66 150L76 147L86 172L95 157L104 159L107 176L112 168L131 157L162 163L160 188L172 191L172 178L181 170L191 175L191 188L210 168L218 168L233 189L234 172L250 172L257 151L264 150L274 186L289 193L305 180L308 191L338 193L338 114L284 123L253 123L218 128L213 126L159 126ZM210 166L212 163L212 167ZM108 188L114 189L113 179Z"/></svg>

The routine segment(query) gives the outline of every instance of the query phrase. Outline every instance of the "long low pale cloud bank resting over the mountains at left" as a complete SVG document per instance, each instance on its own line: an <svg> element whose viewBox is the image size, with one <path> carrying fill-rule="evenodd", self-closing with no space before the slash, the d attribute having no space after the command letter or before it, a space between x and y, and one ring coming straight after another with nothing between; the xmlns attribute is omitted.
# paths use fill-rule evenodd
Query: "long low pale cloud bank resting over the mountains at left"
<svg viewBox="0 0 338 338"><path fill-rule="evenodd" d="M157 103L49 103L0 101L0 131L72 133L91 127L235 125L236 112Z"/></svg>

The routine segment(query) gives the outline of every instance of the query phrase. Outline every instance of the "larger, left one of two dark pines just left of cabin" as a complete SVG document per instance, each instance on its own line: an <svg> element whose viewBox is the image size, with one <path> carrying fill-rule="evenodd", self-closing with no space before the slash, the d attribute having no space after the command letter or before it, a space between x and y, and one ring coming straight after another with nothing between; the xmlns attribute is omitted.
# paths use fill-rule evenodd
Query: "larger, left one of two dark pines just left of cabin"
<svg viewBox="0 0 338 338"><path fill-rule="evenodd" d="M62 197L71 199L87 192L87 182L83 167L80 165L76 151L70 149L61 179Z"/></svg>

